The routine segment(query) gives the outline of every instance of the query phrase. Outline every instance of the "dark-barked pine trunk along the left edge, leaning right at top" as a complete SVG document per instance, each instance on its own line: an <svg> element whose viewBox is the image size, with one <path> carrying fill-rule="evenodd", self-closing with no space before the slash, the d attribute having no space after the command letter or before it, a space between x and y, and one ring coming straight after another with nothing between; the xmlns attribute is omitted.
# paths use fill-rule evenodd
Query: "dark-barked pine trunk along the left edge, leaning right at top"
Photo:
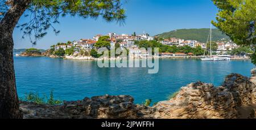
<svg viewBox="0 0 256 130"><path fill-rule="evenodd" d="M0 23L0 118L22 118L16 92L13 30L31 0L10 0Z"/></svg>

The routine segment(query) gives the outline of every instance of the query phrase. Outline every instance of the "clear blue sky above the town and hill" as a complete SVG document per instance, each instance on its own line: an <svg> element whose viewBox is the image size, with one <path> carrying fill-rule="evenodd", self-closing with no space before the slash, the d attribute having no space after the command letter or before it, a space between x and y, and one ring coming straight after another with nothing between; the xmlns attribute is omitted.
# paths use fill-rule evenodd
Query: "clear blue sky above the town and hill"
<svg viewBox="0 0 256 130"><path fill-rule="evenodd" d="M106 23L103 19L83 19L79 17L65 17L55 27L61 32L56 36L49 29L34 46L38 49L48 49L57 42L91 38L96 34L109 32L132 34L136 32L155 34L169 32L183 28L209 28L210 21L216 17L218 9L210 0L127 0L123 5L126 10L126 24ZM22 17L19 23L26 20ZM22 39L22 32L15 29L14 48L32 47L28 37Z"/></svg>

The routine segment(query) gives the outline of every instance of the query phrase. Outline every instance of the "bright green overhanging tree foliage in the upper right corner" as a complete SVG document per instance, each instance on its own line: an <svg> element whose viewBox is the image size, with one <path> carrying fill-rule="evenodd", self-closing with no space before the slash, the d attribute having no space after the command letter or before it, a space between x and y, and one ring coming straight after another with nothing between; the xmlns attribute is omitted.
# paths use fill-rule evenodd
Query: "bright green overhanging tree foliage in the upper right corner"
<svg viewBox="0 0 256 130"><path fill-rule="evenodd" d="M255 0L213 0L219 8L216 21L212 24L224 32L238 45L254 50L251 61L256 64L256 1Z"/></svg>

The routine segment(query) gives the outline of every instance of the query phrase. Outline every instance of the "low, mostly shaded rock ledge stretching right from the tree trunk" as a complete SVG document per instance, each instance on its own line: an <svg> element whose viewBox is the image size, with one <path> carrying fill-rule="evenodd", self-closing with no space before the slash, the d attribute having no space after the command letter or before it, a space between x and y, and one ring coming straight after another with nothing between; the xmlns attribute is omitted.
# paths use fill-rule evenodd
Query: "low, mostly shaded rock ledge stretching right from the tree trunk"
<svg viewBox="0 0 256 130"><path fill-rule="evenodd" d="M130 96L97 96L63 105L37 105L20 102L23 118L138 118L138 109Z"/></svg>

